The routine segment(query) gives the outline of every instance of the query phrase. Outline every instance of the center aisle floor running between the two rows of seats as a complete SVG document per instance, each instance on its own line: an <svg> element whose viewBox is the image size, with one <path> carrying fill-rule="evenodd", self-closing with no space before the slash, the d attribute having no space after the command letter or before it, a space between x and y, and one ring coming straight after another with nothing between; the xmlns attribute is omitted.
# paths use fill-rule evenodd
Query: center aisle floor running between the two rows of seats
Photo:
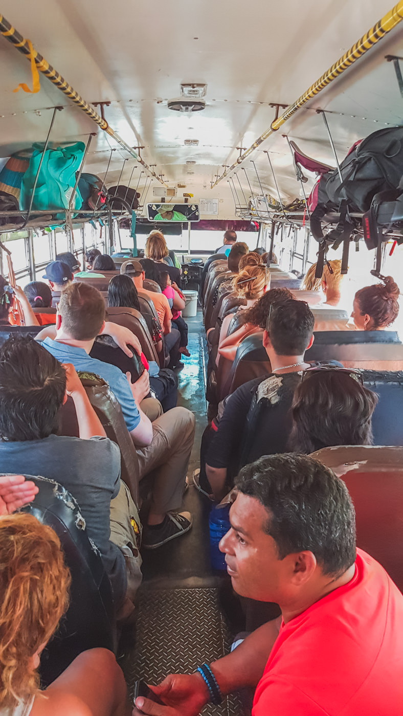
<svg viewBox="0 0 403 716"><path fill-rule="evenodd" d="M135 636L122 635L120 665L132 694L136 679L155 684L173 672L191 673L203 662L228 653L233 635L219 606L225 573L210 566L208 513L210 503L193 486L200 440L207 423L205 404L205 334L201 311L187 319L190 358L178 374L178 405L196 418L195 443L188 470L189 488L183 508L193 515L193 528L155 551L144 551L143 583L139 590ZM241 716L241 702L231 696L203 714Z"/></svg>

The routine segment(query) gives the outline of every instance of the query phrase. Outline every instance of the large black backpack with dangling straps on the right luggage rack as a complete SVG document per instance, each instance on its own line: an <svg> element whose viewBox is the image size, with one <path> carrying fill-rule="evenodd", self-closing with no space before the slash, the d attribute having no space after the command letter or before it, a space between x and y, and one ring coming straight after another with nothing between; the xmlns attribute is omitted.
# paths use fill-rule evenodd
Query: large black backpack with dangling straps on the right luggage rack
<svg viewBox="0 0 403 716"><path fill-rule="evenodd" d="M344 241L341 271L346 272L348 260L348 242L354 233L359 233L358 223L351 219L350 213L366 213L374 210L372 203L380 193L397 192L403 176L403 127L387 127L373 132L346 156L339 170L324 174L319 182L318 204L311 214L311 232L321 244L316 273L321 275L326 245ZM342 180L341 180L342 179ZM400 194L400 189L397 193ZM377 211L379 201L376 200ZM326 213L339 212L339 224L324 235L321 220ZM372 216L375 220L376 216ZM378 236L369 237L368 221L363 221L364 237L368 248L379 243ZM321 256L323 254L323 256ZM321 266L319 264L321 263Z"/></svg>

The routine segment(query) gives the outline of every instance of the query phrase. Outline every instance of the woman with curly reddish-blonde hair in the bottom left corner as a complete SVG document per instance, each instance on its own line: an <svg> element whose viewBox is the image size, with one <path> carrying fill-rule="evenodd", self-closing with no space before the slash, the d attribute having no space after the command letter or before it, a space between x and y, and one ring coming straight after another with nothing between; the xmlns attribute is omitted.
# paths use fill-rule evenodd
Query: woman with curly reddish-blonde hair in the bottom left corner
<svg viewBox="0 0 403 716"><path fill-rule="evenodd" d="M47 688L39 658L67 609L59 538L29 514L0 518L0 715L130 716L125 679L107 649L90 649Z"/></svg>

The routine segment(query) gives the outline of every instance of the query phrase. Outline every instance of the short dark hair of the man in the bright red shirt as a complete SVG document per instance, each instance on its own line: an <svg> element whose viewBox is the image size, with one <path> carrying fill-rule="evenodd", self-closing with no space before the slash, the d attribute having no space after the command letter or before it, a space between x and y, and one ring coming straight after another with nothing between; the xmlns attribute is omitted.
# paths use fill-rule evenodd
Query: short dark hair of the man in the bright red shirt
<svg viewBox="0 0 403 716"><path fill-rule="evenodd" d="M268 511L265 531L279 559L309 550L323 574L341 576L356 558L354 506L345 483L307 455L265 455L236 487Z"/></svg>

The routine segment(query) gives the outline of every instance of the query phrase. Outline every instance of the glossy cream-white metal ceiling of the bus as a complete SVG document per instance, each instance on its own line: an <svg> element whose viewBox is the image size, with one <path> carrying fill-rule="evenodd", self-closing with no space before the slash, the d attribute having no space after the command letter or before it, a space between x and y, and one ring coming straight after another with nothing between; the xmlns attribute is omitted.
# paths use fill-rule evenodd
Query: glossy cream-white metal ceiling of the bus
<svg viewBox="0 0 403 716"><path fill-rule="evenodd" d="M30 84L31 71L27 58L5 38L0 46L1 64L6 68L0 79L1 157L44 142L53 108L59 106L63 110L57 112L50 141L86 143L89 134L97 132L84 171L105 178L109 163L106 184L116 185L120 180L127 185L131 177L132 187L138 185L144 194L143 203L154 200L154 188L164 188L150 172L167 187L177 188L178 201L183 200L183 193L193 195L194 200L218 199L218 213L203 216L200 212L201 219L233 220L233 187L243 218L248 218L251 198L268 193L278 201L277 186L284 204L304 199L283 135L306 155L334 166L326 126L316 110L326 112L339 160L356 140L399 124L403 100L394 64L385 57L403 54L402 28L397 24L223 177L225 167L236 163L276 115L390 8L384 0L360 0L353 5L341 3L335 11L330 0L320 7L316 2L301 5L293 0L288 9L285 14L281 6L262 6L256 0L248 6L241 0L197 2L190 9L178 0L167 20L165 6L158 0L137 3L130 10L124 0L112 5L101 2L96 12L92 3L45 0L37 14L27 13L24 2L4 0L1 11L9 23L105 116L127 145L142 147L136 153L150 170L43 74L36 94L21 89L13 92L21 82ZM172 100L180 98L181 84L202 87L204 96L193 102L193 107L197 102L202 107L200 111L169 108ZM107 104L99 106L102 102ZM313 174L308 176L306 194L315 180ZM208 211L213 211L211 205Z"/></svg>

